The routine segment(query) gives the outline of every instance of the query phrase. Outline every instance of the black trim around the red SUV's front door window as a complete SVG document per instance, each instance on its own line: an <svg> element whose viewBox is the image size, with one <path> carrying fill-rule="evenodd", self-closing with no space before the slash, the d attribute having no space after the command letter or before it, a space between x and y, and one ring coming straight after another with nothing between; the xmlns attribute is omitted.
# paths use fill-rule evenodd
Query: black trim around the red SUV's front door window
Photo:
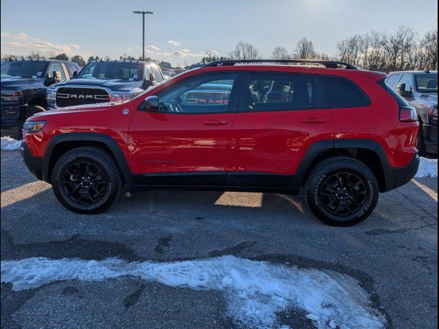
<svg viewBox="0 0 439 329"><path fill-rule="evenodd" d="M187 77L183 80L180 80L178 83L176 84L172 84L170 86L167 86L166 88L163 88L161 90L159 90L156 94L158 99L160 100L160 95L162 93L166 93L168 90L170 90L171 88L178 88L178 86L187 83L188 80L191 80L193 78L197 78L197 77L206 77L209 75L212 75L214 77L218 77L218 80L220 80L222 77L221 75L225 75L225 74L235 74L237 75L237 77L235 78L235 82L233 83L233 88L232 91L230 93L230 100L228 102L228 110L227 111L219 111L219 112L163 112L166 114L176 114L176 115L193 115L193 114L230 114L230 113L235 113L237 111L237 105L238 105L238 101L239 101L239 94L240 94L240 85L241 85L241 75L242 72L240 71L221 71L221 72L211 72L211 73L203 73L200 75L191 75L190 77ZM142 103L139 105L139 107L141 107ZM139 110L139 108L138 108ZM145 110L142 110L145 111ZM148 112L148 111L146 111Z"/></svg>

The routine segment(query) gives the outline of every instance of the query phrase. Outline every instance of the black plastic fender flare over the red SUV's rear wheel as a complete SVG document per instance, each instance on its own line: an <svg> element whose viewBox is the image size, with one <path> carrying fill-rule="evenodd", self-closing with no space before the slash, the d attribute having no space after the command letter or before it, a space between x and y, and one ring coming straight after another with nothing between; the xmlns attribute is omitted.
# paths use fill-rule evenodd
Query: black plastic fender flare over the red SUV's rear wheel
<svg viewBox="0 0 439 329"><path fill-rule="evenodd" d="M291 187L298 189L304 184L309 167L323 151L348 148L369 149L370 151L375 152L381 162L381 168L383 169L385 191L390 191L390 189L393 188L392 170L390 169L390 164L385 151L381 144L369 139L333 139L314 143L305 152L305 156L303 156L296 174L294 174Z"/></svg>

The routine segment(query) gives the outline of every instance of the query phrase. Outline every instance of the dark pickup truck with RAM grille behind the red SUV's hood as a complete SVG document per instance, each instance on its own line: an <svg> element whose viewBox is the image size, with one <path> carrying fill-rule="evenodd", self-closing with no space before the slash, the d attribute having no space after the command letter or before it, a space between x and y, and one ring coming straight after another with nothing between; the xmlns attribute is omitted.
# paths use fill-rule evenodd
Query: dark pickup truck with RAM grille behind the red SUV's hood
<svg viewBox="0 0 439 329"><path fill-rule="evenodd" d="M101 60L90 62L74 79L47 89L49 108L127 101L164 81L154 62Z"/></svg>

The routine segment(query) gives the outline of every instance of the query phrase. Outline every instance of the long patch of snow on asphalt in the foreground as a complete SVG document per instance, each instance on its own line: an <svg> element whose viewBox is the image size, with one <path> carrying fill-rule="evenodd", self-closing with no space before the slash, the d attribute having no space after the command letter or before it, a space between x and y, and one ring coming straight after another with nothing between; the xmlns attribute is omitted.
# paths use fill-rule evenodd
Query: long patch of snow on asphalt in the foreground
<svg viewBox="0 0 439 329"><path fill-rule="evenodd" d="M32 289L58 280L100 281L135 276L171 287L224 291L228 315L245 328L278 328L276 313L305 310L317 328L384 328L368 293L353 278L335 271L257 262L223 256L169 263L126 263L27 258L1 262L1 281L12 289Z"/></svg>

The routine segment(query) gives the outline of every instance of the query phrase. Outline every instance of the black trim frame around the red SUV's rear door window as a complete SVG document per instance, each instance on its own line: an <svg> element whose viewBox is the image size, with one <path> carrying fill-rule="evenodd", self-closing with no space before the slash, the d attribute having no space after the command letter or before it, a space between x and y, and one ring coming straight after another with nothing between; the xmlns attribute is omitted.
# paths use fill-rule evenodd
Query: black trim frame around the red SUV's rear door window
<svg viewBox="0 0 439 329"><path fill-rule="evenodd" d="M248 88L248 82L250 82L250 75L305 75L313 79L314 88L316 88L315 95L322 95L322 99L314 97L314 103L312 108L289 108L289 109L279 109L279 110L247 110L248 99L245 97ZM322 110L329 108L326 97L323 93L323 87L321 85L320 79L317 75L307 74L307 73L296 73L296 72L272 72L272 71L246 71L241 78L241 88L239 88L239 104L237 106L237 113L254 113L254 112L287 112L287 111L312 111L312 110Z"/></svg>

